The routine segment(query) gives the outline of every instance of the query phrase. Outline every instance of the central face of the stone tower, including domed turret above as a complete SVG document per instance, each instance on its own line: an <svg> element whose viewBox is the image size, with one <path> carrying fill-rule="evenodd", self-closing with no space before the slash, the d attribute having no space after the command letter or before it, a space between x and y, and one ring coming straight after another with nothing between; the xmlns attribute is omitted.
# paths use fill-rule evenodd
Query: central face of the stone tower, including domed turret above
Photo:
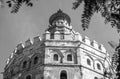
<svg viewBox="0 0 120 79"><path fill-rule="evenodd" d="M79 48L78 33L71 26L70 17L58 10L49 19L49 27L45 33L45 79L81 78L77 50ZM48 38L49 37L49 38ZM77 38L78 37L78 38Z"/></svg>

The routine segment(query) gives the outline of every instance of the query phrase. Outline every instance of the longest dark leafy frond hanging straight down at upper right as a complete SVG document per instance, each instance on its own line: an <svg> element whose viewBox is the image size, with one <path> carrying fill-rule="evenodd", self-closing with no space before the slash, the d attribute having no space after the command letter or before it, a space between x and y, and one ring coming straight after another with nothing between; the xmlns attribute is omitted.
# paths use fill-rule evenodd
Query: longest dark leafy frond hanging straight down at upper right
<svg viewBox="0 0 120 79"><path fill-rule="evenodd" d="M96 2L94 0L85 0L84 2L84 11L82 14L82 28L86 30L89 26L91 17L94 15L96 11Z"/></svg>

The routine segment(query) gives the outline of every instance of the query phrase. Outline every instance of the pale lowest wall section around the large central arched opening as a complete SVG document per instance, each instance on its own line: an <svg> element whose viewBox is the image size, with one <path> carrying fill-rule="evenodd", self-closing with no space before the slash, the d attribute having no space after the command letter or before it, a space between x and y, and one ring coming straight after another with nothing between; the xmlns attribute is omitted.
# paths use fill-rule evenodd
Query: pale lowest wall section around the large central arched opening
<svg viewBox="0 0 120 79"><path fill-rule="evenodd" d="M60 79L60 74L63 70L67 72L67 79L81 79L79 67L47 66L44 70L44 79Z"/></svg>

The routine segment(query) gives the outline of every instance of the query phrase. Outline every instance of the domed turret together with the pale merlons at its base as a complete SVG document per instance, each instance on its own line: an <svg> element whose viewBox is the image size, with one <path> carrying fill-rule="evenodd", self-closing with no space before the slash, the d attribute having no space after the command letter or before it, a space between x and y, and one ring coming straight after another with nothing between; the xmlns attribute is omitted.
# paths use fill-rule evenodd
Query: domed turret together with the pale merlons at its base
<svg viewBox="0 0 120 79"><path fill-rule="evenodd" d="M59 9L49 18L49 26L44 34L46 40L73 40L70 17Z"/></svg>

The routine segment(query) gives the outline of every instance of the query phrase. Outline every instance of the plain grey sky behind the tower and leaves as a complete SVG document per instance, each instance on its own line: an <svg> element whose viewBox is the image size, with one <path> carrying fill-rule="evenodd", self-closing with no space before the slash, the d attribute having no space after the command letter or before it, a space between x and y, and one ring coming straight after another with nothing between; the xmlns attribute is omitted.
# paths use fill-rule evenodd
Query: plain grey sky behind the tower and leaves
<svg viewBox="0 0 120 79"><path fill-rule="evenodd" d="M62 9L71 17L71 25L76 32L83 36L88 36L91 40L96 40L103 44L106 50L113 54L108 41L118 43L119 34L116 29L112 29L110 24L104 24L104 18L96 13L90 22L89 29L83 31L81 28L81 14L83 4L76 10L72 9L75 0L34 0L33 7L22 6L17 14L11 14L10 9L5 6L0 8L0 72L4 71L6 60L13 52L17 44L28 39L41 36L49 25L49 17ZM0 79L2 74L0 74Z"/></svg>

